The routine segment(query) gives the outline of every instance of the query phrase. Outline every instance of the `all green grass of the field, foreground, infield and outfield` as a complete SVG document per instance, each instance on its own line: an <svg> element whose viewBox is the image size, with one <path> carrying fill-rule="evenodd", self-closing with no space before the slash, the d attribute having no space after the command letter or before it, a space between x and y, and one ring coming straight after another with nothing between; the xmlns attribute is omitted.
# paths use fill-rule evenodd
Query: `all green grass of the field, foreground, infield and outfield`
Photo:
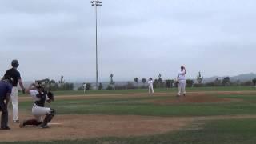
<svg viewBox="0 0 256 144"><path fill-rule="evenodd" d="M197 89L197 90L195 90ZM244 91L255 90L251 87L218 87L217 88L194 88L188 91ZM100 91L100 90L99 90ZM107 90L108 91L108 90ZM122 92L121 92L122 91ZM256 95L254 94L211 94L216 98L234 98L234 102L218 103L179 103L158 105L151 101L175 99L174 95L139 97L146 90L131 90L128 93L137 93L138 98L89 98L84 100L59 100L52 103L51 107L58 114L117 114L117 115L147 115L164 117L190 117L190 116L213 116L213 115L256 115ZM172 90L159 90L159 92ZM173 90L175 92L176 90ZM70 92L70 91L69 91ZM74 91L72 91L74 93ZM93 91L92 91L93 92ZM96 92L96 90L94 91ZM102 92L102 91L101 91ZM110 90L107 94L124 93L125 90ZM80 92L79 92L80 93ZM62 92L59 93L62 95ZM70 92L71 94L71 92ZM94 93L95 94L95 93ZM97 94L99 93L97 90ZM21 110L30 112L32 102L20 102ZM185 129L166 134L129 138L90 138L75 141L63 140L52 142L0 142L0 143L88 143L88 144L238 144L256 142L256 118L226 119L200 121L203 123L200 129ZM196 125L196 123L195 123ZM190 126L188 126L190 128ZM0 140L1 141L1 140Z"/></svg>

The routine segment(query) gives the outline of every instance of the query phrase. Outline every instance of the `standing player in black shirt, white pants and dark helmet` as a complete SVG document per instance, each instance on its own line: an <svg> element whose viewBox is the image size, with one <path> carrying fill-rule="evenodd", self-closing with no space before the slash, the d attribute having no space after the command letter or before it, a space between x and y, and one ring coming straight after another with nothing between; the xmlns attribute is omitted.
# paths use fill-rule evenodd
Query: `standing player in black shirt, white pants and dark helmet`
<svg viewBox="0 0 256 144"><path fill-rule="evenodd" d="M19 83L19 86L21 86L22 88L23 94L25 94L25 88L22 83L21 74L17 70L19 66L18 60L14 59L11 62L11 66L12 68L6 71L6 74L4 75L4 77L10 76L10 78L12 79L13 88L10 94L10 98L13 105L13 122L19 123L20 121L18 120L18 87L17 87L18 83Z"/></svg>

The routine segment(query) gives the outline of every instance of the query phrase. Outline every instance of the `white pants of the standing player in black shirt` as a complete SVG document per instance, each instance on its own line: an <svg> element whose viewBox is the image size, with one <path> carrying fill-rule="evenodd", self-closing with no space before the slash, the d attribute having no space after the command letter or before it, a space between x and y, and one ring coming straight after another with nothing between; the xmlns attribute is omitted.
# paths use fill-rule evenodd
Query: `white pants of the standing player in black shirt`
<svg viewBox="0 0 256 144"><path fill-rule="evenodd" d="M13 86L13 89L10 94L11 102L13 105L13 120L18 120L18 87Z"/></svg>

